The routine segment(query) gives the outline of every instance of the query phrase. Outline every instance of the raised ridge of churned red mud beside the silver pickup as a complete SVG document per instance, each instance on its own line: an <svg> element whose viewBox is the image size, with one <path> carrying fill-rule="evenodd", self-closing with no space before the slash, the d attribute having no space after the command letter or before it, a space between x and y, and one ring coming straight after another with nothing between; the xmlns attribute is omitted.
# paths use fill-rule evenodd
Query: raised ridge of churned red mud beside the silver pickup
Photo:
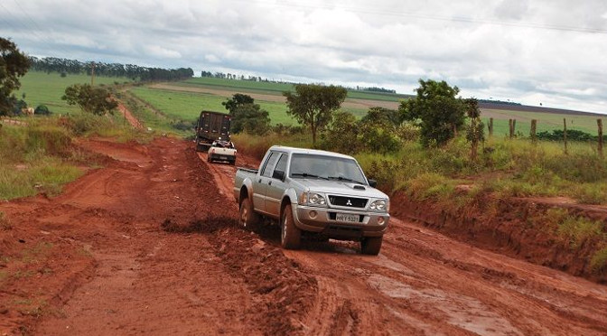
<svg viewBox="0 0 607 336"><path fill-rule="evenodd" d="M187 226L166 219L162 227L167 232L209 235L215 255L228 273L242 278L249 291L260 298L260 306L253 309L262 313L257 323L266 326L265 334L302 331L301 317L312 306L316 279L285 257L279 247L267 244L255 232L240 229L234 218L199 219Z"/></svg>

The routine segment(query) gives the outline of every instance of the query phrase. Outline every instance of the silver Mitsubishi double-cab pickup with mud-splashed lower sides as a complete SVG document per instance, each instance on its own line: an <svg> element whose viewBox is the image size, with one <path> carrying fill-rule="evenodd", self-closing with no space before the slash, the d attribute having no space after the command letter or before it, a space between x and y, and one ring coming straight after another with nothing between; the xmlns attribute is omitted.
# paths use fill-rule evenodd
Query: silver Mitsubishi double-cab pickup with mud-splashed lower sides
<svg viewBox="0 0 607 336"><path fill-rule="evenodd" d="M285 248L300 247L302 234L312 234L360 241L363 254L377 255L390 201L374 186L351 156L275 145L259 170L238 168L234 198L242 226L275 219Z"/></svg>

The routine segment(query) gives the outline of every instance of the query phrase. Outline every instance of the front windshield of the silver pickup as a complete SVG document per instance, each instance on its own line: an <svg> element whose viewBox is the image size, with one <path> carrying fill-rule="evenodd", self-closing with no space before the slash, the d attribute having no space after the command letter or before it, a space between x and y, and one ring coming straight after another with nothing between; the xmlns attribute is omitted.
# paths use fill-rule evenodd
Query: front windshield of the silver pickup
<svg viewBox="0 0 607 336"><path fill-rule="evenodd" d="M367 184L356 161L328 155L293 154L289 173L294 178L315 177Z"/></svg>

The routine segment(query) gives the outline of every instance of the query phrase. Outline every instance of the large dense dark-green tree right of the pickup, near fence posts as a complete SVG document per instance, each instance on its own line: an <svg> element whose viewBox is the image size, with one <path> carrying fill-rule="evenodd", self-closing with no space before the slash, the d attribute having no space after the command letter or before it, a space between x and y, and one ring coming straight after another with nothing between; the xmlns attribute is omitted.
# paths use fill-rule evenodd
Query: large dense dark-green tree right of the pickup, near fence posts
<svg viewBox="0 0 607 336"><path fill-rule="evenodd" d="M463 125L464 104L456 98L460 89L444 80L419 79L417 96L401 102L398 108L403 120L418 121L422 145L444 145Z"/></svg>

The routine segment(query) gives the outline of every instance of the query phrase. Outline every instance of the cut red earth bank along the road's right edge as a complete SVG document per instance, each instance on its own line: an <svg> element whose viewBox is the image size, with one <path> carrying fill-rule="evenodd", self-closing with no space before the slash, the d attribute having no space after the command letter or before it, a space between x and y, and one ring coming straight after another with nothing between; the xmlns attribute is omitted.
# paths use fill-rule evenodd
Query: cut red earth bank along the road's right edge
<svg viewBox="0 0 607 336"><path fill-rule="evenodd" d="M607 266L599 272L591 266L594 253L602 247L600 241L587 239L581 247L571 248L568 242L549 234L541 224L532 224L545 217L547 210L558 208L576 217L600 220L607 229L605 207L557 199L493 200L488 197L465 211L450 211L432 202L413 201L404 194L398 194L395 201L401 204L395 211L397 216L418 220L453 238L607 284ZM490 204L495 204L496 209L485 209Z"/></svg>

